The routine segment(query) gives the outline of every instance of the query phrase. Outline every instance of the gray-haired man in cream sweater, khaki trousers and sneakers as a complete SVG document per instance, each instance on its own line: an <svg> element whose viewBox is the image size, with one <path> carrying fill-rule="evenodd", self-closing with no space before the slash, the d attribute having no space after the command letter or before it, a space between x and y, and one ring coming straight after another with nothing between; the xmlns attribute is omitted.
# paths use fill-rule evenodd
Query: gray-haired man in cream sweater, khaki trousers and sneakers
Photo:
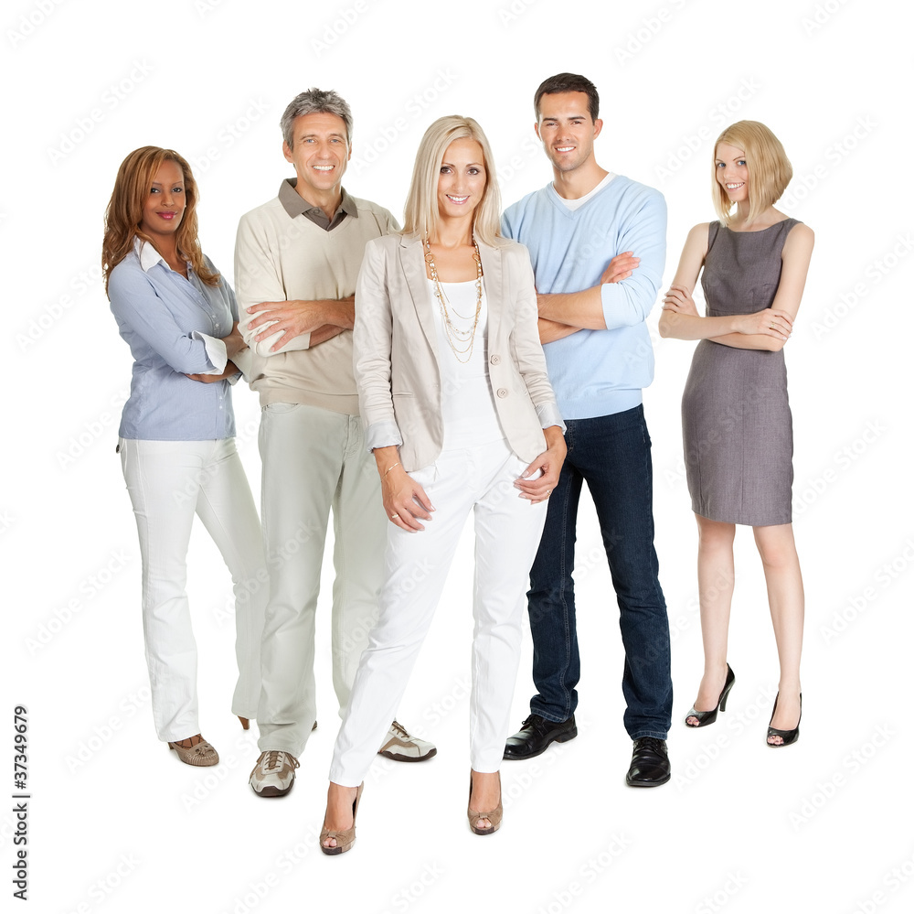
<svg viewBox="0 0 914 914"><path fill-rule="evenodd" d="M365 446L352 367L356 277L366 242L396 231L388 210L342 181L352 113L335 91L309 89L282 114L295 168L279 196L241 217L235 246L249 382L260 393L261 520L270 601L260 653L261 797L292 789L314 726L314 621L324 538L334 515L333 680L345 708L377 616L387 518ZM378 750L420 761L435 747L394 721Z"/></svg>

